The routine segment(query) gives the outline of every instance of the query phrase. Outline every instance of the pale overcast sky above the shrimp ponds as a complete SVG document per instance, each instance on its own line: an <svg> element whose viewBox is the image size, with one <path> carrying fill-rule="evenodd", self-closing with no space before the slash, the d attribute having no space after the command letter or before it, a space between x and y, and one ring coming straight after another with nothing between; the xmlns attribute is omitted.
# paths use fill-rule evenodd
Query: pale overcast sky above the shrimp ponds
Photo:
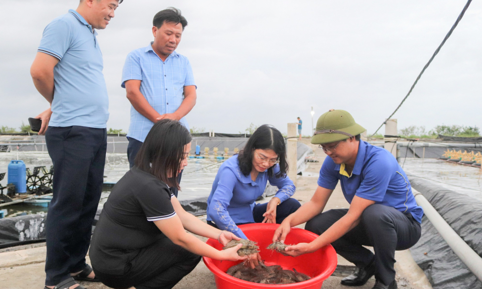
<svg viewBox="0 0 482 289"><path fill-rule="evenodd" d="M125 0L98 31L109 93L107 127L127 131L121 88L127 54L153 40L154 15L181 9L188 21L177 52L198 86L191 127L237 133L250 123L303 133L330 108L369 133L398 106L465 5L453 1ZM19 127L48 107L30 77L45 26L76 0L0 1L0 125ZM462 21L397 112L399 128L482 126L482 2ZM381 130L384 131L384 128Z"/></svg>

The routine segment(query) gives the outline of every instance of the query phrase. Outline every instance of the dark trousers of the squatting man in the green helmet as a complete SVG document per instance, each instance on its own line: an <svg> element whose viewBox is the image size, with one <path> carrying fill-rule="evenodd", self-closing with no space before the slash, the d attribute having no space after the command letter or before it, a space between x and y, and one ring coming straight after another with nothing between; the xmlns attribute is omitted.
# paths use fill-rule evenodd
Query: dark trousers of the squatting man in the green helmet
<svg viewBox="0 0 482 289"><path fill-rule="evenodd" d="M321 235L348 212L329 210L309 220L305 229ZM405 250L420 239L420 223L410 213L374 204L362 213L360 223L331 243L336 252L358 268L367 266L375 257L375 278L389 285L395 279L395 250ZM375 256L363 246L373 246Z"/></svg>

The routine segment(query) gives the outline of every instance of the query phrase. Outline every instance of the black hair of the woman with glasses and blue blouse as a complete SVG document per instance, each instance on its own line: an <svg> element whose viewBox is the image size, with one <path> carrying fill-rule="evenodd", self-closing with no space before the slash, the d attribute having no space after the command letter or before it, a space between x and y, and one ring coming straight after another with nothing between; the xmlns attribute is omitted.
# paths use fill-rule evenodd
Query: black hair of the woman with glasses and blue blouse
<svg viewBox="0 0 482 289"><path fill-rule="evenodd" d="M258 127L251 135L242 151L239 151L237 160L239 169L243 175L248 176L253 169L253 156L255 150L273 150L278 155L280 161L280 172L276 174L277 178L285 177L288 172L288 162L286 161L285 139L281 132L274 126L263 124ZM273 177L273 167L268 169L268 176Z"/></svg>

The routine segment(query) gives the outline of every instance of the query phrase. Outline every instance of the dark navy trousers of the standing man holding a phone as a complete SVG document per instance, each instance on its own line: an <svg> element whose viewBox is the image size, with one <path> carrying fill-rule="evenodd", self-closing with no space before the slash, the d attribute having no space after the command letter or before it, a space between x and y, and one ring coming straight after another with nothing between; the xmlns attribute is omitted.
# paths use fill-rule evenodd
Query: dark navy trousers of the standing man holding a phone
<svg viewBox="0 0 482 289"><path fill-rule="evenodd" d="M45 140L54 165L53 198L45 228L45 284L53 286L86 265L102 191L107 133L105 128L49 126Z"/></svg>

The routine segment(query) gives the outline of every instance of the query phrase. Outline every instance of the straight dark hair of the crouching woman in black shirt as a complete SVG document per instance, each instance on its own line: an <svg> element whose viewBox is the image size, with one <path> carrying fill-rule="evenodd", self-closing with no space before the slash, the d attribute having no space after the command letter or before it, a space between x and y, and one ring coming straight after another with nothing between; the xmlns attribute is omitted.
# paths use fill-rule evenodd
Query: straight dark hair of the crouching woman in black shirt
<svg viewBox="0 0 482 289"><path fill-rule="evenodd" d="M179 188L178 171L184 158L184 146L191 134L181 122L162 119L154 124L136 156L136 166L169 187ZM172 173L171 177L168 177Z"/></svg>

